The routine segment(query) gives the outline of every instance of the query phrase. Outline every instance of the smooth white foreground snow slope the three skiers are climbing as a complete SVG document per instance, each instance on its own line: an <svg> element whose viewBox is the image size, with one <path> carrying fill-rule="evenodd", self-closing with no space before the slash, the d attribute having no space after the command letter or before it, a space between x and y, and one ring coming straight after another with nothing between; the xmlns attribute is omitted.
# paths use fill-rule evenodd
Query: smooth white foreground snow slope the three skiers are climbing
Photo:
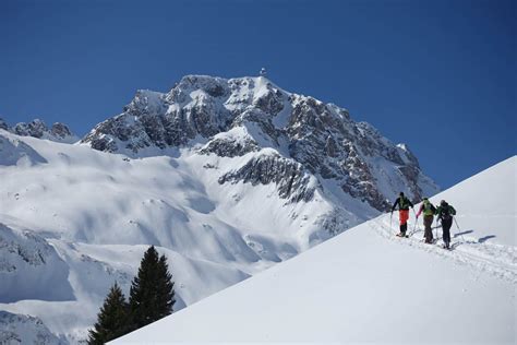
<svg viewBox="0 0 517 345"><path fill-rule="evenodd" d="M512 157L432 199L459 212L453 251L363 223L113 344L516 342ZM395 223L395 222L394 222Z"/></svg>

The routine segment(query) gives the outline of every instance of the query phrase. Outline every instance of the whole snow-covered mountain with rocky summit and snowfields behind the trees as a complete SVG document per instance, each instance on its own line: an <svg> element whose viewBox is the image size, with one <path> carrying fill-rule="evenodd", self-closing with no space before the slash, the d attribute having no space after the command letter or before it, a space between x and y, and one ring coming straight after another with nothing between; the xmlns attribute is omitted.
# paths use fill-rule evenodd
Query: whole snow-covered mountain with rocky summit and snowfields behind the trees
<svg viewBox="0 0 517 345"><path fill-rule="evenodd" d="M115 281L129 290L149 245L169 258L179 310L377 216L399 191L437 191L406 145L264 76L140 91L75 144L37 127L0 129L0 310L72 343Z"/></svg>

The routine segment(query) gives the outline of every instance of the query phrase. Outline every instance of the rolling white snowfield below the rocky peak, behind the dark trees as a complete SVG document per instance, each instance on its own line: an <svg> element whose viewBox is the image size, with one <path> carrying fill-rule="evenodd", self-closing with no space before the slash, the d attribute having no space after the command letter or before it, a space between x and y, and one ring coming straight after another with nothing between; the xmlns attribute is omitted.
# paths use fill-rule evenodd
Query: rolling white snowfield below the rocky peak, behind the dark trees
<svg viewBox="0 0 517 345"><path fill-rule="evenodd" d="M133 159L4 130L0 143L0 310L70 343L87 337L115 282L129 293L149 245L169 260L180 310L330 238L325 222L378 214L356 200L334 215L317 190L289 203L275 183L218 182L270 147L229 158L199 154L201 142Z"/></svg>

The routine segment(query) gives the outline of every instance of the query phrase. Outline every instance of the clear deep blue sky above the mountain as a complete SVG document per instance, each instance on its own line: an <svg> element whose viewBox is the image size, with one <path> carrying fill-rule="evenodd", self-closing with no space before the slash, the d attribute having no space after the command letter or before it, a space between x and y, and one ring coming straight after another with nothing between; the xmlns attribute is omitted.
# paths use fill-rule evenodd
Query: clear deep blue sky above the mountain
<svg viewBox="0 0 517 345"><path fill-rule="evenodd" d="M0 0L0 116L82 135L139 88L265 67L407 143L447 188L517 153L516 3Z"/></svg>

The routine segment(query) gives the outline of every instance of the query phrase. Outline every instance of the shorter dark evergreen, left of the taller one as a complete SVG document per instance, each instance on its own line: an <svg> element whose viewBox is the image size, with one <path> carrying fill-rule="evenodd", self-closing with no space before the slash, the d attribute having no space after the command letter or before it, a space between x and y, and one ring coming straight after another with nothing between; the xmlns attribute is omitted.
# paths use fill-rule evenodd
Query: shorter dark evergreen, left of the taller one
<svg viewBox="0 0 517 345"><path fill-rule="evenodd" d="M97 314L97 323L88 332L88 344L104 344L128 332L128 304L116 282Z"/></svg>

